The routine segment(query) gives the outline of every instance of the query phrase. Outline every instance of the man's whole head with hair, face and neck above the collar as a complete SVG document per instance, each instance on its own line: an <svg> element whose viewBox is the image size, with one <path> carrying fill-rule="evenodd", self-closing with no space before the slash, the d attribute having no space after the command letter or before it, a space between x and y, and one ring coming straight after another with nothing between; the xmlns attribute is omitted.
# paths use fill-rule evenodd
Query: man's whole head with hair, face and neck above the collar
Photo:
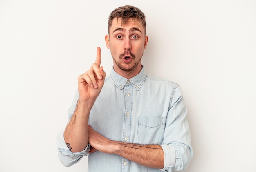
<svg viewBox="0 0 256 172"><path fill-rule="evenodd" d="M105 41L111 51L114 70L126 78L137 75L148 43L144 13L129 5L115 9L108 20Z"/></svg>

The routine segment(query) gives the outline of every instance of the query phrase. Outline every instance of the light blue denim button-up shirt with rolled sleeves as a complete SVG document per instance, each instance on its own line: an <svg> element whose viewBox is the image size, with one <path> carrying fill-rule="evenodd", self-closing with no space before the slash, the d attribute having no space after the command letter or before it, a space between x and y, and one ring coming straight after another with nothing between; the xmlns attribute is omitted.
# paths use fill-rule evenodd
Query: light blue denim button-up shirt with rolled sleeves
<svg viewBox="0 0 256 172"><path fill-rule="evenodd" d="M69 120L78 98L77 92L68 111ZM129 80L112 69L91 109L89 124L110 140L161 145L164 168L148 168L116 154L99 151L89 155L89 147L82 152L72 153L65 144L64 130L57 136L59 159L63 165L70 166L89 155L89 172L185 170L193 156L186 114L178 84L148 76L144 68Z"/></svg>

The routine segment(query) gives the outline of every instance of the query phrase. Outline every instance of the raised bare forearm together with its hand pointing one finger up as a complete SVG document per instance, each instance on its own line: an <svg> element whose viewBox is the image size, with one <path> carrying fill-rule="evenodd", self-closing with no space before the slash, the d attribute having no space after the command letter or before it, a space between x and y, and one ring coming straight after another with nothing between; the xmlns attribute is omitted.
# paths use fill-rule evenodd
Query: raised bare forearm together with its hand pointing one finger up
<svg viewBox="0 0 256 172"><path fill-rule="evenodd" d="M75 112L65 131L64 140L71 152L80 152L88 143L88 118L90 110L104 85L106 73L101 63L101 49L97 47L97 57L89 71L78 77L79 99Z"/></svg>

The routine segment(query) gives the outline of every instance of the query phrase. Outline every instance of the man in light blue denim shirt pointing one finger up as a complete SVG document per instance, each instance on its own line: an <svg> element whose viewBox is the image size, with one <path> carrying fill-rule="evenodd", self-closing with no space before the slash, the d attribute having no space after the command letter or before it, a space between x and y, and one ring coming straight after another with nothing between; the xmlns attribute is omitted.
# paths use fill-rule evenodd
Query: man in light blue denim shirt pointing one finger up
<svg viewBox="0 0 256 172"><path fill-rule="evenodd" d="M148 76L141 65L148 43L144 13L119 7L108 24L113 69L106 77L97 47L58 134L60 161L70 166L89 155L89 172L185 170L193 156L186 106L178 84Z"/></svg>

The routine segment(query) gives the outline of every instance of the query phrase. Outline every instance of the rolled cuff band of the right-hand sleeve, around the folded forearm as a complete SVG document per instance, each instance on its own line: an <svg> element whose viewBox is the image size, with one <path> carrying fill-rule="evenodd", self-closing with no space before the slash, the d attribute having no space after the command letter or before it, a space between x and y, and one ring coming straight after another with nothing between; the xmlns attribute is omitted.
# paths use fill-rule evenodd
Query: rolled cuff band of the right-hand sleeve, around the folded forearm
<svg viewBox="0 0 256 172"><path fill-rule="evenodd" d="M176 163L176 151L171 145L160 145L164 151L164 168L162 171L171 172Z"/></svg>

